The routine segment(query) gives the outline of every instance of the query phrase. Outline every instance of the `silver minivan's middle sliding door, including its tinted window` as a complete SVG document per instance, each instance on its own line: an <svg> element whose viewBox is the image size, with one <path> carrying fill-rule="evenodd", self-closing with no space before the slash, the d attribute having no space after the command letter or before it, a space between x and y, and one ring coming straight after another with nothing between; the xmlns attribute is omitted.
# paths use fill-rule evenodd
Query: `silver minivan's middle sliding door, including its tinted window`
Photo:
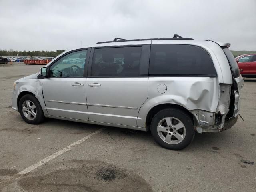
<svg viewBox="0 0 256 192"><path fill-rule="evenodd" d="M148 98L148 77L142 74L148 61L141 52L142 46L95 48L86 81L90 121L137 126L138 111Z"/></svg>

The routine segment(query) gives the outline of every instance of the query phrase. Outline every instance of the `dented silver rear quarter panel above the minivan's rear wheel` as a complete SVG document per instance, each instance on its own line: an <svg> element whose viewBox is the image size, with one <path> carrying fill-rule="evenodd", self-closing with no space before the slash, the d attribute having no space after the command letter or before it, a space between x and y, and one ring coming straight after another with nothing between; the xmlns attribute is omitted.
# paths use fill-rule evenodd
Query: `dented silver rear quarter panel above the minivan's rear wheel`
<svg viewBox="0 0 256 192"><path fill-rule="evenodd" d="M161 94L158 86L165 84ZM188 110L204 110L215 113L219 101L218 78L214 77L151 77L148 80L148 100L138 114L138 127L145 127L146 116L159 104L177 104Z"/></svg>

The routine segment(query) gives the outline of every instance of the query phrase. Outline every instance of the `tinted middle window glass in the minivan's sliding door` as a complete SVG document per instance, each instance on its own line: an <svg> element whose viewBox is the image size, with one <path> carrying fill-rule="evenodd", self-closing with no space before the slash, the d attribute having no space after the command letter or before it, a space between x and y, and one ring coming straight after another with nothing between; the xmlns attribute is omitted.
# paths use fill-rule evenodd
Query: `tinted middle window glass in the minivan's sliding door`
<svg viewBox="0 0 256 192"><path fill-rule="evenodd" d="M98 48L91 76L139 76L142 47Z"/></svg>

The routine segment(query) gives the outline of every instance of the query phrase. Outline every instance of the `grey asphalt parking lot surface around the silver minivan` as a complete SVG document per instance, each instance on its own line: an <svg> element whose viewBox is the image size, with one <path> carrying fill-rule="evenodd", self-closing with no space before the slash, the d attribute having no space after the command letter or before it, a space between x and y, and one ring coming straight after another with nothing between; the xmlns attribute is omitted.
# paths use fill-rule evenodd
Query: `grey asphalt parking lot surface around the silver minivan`
<svg viewBox="0 0 256 192"><path fill-rule="evenodd" d="M244 79L244 122L196 134L190 146L171 151L150 132L55 119L25 123L11 108L12 85L40 67L0 64L1 192L256 192L256 79Z"/></svg>

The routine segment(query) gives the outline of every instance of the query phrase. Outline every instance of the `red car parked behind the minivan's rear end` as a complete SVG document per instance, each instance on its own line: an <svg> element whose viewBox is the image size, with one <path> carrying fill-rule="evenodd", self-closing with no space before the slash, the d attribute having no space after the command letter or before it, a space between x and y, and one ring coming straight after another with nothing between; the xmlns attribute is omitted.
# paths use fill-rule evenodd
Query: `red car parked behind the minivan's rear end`
<svg viewBox="0 0 256 192"><path fill-rule="evenodd" d="M243 77L256 78L256 53L240 55L235 59Z"/></svg>

